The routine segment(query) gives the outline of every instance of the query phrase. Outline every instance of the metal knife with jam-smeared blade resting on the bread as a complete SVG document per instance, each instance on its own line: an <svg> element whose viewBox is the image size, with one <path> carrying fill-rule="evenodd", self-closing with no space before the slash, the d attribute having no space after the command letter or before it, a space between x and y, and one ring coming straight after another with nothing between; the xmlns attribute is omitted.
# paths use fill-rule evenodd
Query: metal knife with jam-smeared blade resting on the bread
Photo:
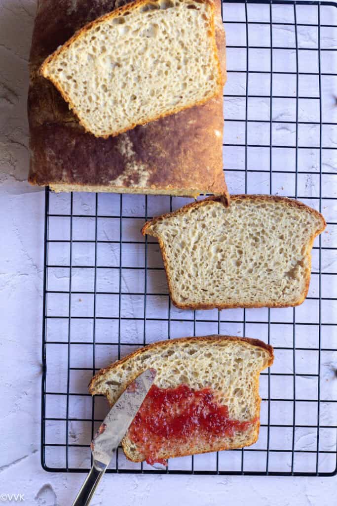
<svg viewBox="0 0 337 506"><path fill-rule="evenodd" d="M73 506L87 506L89 504L113 454L146 398L155 376L155 369L147 369L139 374L110 409L91 442L92 467L73 502Z"/></svg>

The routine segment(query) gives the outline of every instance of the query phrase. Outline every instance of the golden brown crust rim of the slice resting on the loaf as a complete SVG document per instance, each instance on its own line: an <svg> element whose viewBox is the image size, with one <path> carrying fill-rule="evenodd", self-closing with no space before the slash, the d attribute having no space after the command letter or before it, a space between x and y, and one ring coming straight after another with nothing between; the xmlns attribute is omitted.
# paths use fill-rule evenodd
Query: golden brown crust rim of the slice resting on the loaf
<svg viewBox="0 0 337 506"><path fill-rule="evenodd" d="M76 110L75 104L72 102L72 100L71 100L70 96L68 95L68 93L59 85L59 83L53 77L50 77L50 76L46 75L46 67L47 67L47 65L56 56L62 54L69 46L72 45L73 42L75 42L75 40L77 40L78 38L80 38L85 32L87 32L88 30L90 30L94 26L96 26L96 25L98 25L98 24L100 24L100 23L102 23L104 21L107 21L107 20L114 19L114 18L117 18L119 16L122 16L125 11L128 11L130 9L134 9L134 8L137 8L137 7L141 7L142 5L145 5L145 4L148 4L149 0L134 0L134 2L130 2L129 4L123 5L122 7L119 7L117 9L113 10L112 12L109 12L108 14L105 14L104 16L102 16L102 17L100 17L98 19L95 19L94 21L91 21L87 25L83 26L69 40L67 40L67 42L63 46L61 46L60 48L58 48L56 51L54 51L53 54L51 54L48 58L46 58L44 60L44 62L42 63L42 65L41 65L41 67L39 69L39 74L41 74L43 77L46 77L51 82L53 82L53 85L61 93L61 95L64 98L64 100L69 103L69 107L74 111L74 113L76 114L76 116L78 118L78 121L83 126L83 128L85 129L85 131L89 132L89 133L92 133L95 137L102 137L103 139L108 139L108 137L110 137L110 136L114 137L114 136L117 136L119 134L124 134L128 130L132 130L138 124L145 125L145 124L149 123L150 121L156 121L157 119L161 119L161 118L164 118L167 115L175 114L175 113L180 112L180 111L184 111L185 109L188 109L190 107L196 107L196 106L203 105L208 100L210 100L213 97L216 97L220 93L220 91L222 90L222 87L223 87L224 77L221 75L221 66L220 66L220 61L219 61L219 56L218 56L218 49L217 49L217 45L216 45L216 41L215 41L215 23L214 23L214 3L213 3L213 0L198 0L198 1L200 1L201 3L204 3L204 4L208 4L209 7L210 7L210 10L211 10L211 20L210 20L211 24L210 24L210 27L209 27L209 29L211 31L210 39L211 39L211 45L213 47L213 53L214 53L214 56L215 56L216 65L217 65L217 68L218 68L217 88L216 88L216 90L214 91L213 94L208 95L206 98L203 98L202 100L199 100L197 102L191 103L190 105L180 106L180 107L174 107L168 113L162 113L162 114L159 114L157 116L149 117L145 121L142 121L140 123L132 123L132 124L130 124L130 126L128 126L127 128L125 128L123 130L111 131L109 134L106 134L106 135L96 135L96 134L94 134L93 132L90 131L90 129L88 128L88 124L86 124L86 122L84 121L84 118L80 118L80 116L78 114L78 111Z"/></svg>

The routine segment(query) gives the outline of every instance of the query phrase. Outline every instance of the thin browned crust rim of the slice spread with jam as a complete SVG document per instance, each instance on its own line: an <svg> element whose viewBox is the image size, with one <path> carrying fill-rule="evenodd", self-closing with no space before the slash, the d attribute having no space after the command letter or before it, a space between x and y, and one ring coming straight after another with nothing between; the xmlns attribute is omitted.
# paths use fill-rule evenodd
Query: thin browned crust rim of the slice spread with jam
<svg viewBox="0 0 337 506"><path fill-rule="evenodd" d="M255 411L255 413L259 414L260 413L260 404L261 404L261 399L259 396L259 374L260 374L261 370L263 370L265 367L269 367L270 365L272 365L273 360L274 360L273 348L270 345L268 345L258 339L239 338L236 336L209 335L209 336L204 336L204 337L200 337L200 338L199 337L178 338L178 339L171 339L171 340L167 340L167 341L160 341L158 343L154 343L154 344L145 346L143 348L140 348L139 350L136 350L135 352L131 353L130 355L127 355L123 359L115 362L114 364L110 365L109 367L106 367L105 369L101 369L91 379L91 382L89 384L89 392L91 395L103 394L108 397L108 386L106 386L106 389L104 387L107 374L109 374L109 372L111 372L111 371L119 369L123 364L132 361L132 359L134 359L135 357L142 355L142 354L147 354L147 352L149 352L149 350L155 350L155 351L158 350L158 352L161 352L165 348L174 348L177 344L179 346L184 343L198 345L200 343L208 343L208 342L217 343L217 342L221 342L221 341L232 341L232 342L236 342L236 343L244 343L248 347L258 347L258 348L262 348L263 350L268 352L268 354L269 354L268 361L255 374L255 377L254 377L254 384L253 384L254 411ZM146 367L144 368L144 370L145 369L146 369ZM133 381L133 379L141 372L142 372L142 370L138 370L138 371L136 371L135 374L131 374L128 384L130 384ZM112 404L113 403L111 403L111 405ZM260 429L260 419L258 416L255 423L254 423L253 430L251 430L247 434L247 438L244 442L245 446L252 445L257 441L258 436L259 436L259 429ZM135 456L133 454L133 452L129 448L129 444L130 444L130 441L128 440L128 437L125 436L124 439L122 440L122 447L123 447L124 453L127 456L127 458L129 460L134 461L134 462L140 462L141 460L143 460L142 458ZM230 444L228 444L228 442L227 443L223 442L223 445L222 444L217 445L216 450L221 451L221 450L227 450L227 449L235 449L235 448L240 448L242 446L243 446L242 444L237 444L237 442L233 442ZM200 451L193 451L193 453L194 454L204 453L205 451L214 451L214 450L210 449L210 448L202 448L202 449L200 449ZM186 448L182 448L182 449L178 448L178 449L175 449L175 451L173 453L166 455L165 458L184 456L184 455L189 455L190 453L191 452L186 450Z"/></svg>

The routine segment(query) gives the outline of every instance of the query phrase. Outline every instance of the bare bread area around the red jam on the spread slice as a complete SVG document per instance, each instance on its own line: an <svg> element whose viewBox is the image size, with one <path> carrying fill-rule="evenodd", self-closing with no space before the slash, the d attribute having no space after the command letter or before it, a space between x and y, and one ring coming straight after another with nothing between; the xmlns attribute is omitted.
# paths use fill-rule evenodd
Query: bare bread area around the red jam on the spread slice
<svg viewBox="0 0 337 506"><path fill-rule="evenodd" d="M154 384L159 388L187 385L194 390L210 388L216 401L228 408L231 419L252 421L246 431L231 437L179 441L164 444L159 458L188 455L252 444L258 436L260 397L259 372L272 364L271 346L257 340L227 336L183 338L159 342L136 351L100 371L91 381L91 394L106 395L113 405L125 388L142 371L154 367ZM123 448L128 458L141 461L141 448L126 436Z"/></svg>

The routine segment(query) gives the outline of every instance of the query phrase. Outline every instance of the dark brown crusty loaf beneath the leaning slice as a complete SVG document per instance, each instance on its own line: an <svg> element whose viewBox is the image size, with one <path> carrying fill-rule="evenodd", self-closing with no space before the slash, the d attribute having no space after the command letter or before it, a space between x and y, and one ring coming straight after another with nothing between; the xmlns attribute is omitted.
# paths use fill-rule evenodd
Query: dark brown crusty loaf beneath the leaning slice
<svg viewBox="0 0 337 506"><path fill-rule="evenodd" d="M222 171L222 92L204 105L136 126L116 137L86 133L54 85L39 75L45 58L75 31L123 2L39 0L30 53L28 119L31 184L56 191L116 191L228 197ZM225 80L220 0L215 33ZM56 9L57 6L57 9Z"/></svg>

